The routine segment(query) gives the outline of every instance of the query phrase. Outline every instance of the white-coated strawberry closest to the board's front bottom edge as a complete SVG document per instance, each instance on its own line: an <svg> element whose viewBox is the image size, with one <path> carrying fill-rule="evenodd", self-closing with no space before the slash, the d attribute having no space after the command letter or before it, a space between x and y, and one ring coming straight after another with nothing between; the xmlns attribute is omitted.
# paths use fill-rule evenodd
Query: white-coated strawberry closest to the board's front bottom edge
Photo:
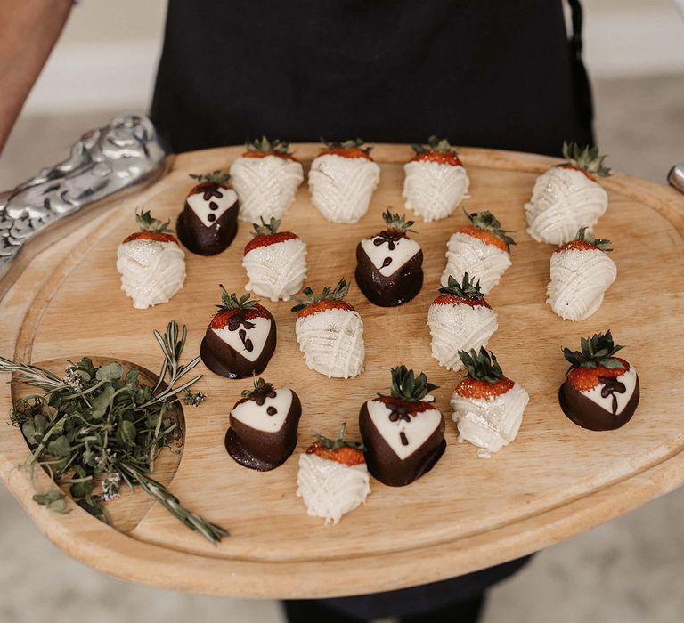
<svg viewBox="0 0 684 623"><path fill-rule="evenodd" d="M318 435L299 455L297 497L306 513L338 523L343 514L365 504L371 493L371 477L361 443L344 441L345 426L336 441Z"/></svg>

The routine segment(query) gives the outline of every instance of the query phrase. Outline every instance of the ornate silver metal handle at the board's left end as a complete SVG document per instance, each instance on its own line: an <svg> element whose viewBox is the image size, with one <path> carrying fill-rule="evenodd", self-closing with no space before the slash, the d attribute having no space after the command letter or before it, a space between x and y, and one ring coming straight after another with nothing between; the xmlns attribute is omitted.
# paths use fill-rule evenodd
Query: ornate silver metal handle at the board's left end
<svg viewBox="0 0 684 623"><path fill-rule="evenodd" d="M86 132L63 162L0 193L0 278L31 236L85 206L155 179L167 155L148 117L124 115Z"/></svg>

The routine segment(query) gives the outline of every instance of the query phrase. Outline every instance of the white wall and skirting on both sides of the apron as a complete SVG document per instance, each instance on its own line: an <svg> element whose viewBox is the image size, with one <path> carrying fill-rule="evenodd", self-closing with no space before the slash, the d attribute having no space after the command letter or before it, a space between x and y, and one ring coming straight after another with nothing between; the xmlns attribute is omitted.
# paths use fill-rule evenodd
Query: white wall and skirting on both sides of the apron
<svg viewBox="0 0 684 623"><path fill-rule="evenodd" d="M584 6L593 77L684 73L684 21L672 0L585 0ZM147 109L165 12L166 0L77 5L25 114Z"/></svg>

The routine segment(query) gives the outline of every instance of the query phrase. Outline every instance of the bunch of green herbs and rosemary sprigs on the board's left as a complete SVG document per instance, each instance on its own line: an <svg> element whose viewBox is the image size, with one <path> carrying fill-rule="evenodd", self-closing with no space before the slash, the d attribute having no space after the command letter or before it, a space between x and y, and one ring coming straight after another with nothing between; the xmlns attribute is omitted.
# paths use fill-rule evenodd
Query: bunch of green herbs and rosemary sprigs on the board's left
<svg viewBox="0 0 684 623"><path fill-rule="evenodd" d="M88 357L69 362L63 378L3 357L0 373L13 374L14 384L41 390L16 401L11 414L12 425L19 426L28 441L32 470L45 469L54 484L69 486L79 506L106 522L110 514L105 502L118 498L124 484L132 490L141 487L188 528L216 544L227 536L226 530L191 513L149 475L161 449L182 441L179 398L192 406L205 398L190 392L201 375L182 382L199 357L180 365L187 329L183 326L180 339L178 333L175 321L164 335L154 332L164 355L154 387L142 381L139 370L124 374L117 361L95 367ZM56 487L33 499L53 511L69 512L64 494Z"/></svg>

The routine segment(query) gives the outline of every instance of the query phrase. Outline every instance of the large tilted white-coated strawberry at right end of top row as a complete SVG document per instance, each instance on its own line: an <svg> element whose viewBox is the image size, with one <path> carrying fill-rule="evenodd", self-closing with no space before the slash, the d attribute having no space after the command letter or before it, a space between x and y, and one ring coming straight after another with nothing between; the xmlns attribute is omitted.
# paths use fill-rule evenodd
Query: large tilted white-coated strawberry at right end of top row
<svg viewBox="0 0 684 623"><path fill-rule="evenodd" d="M565 244L582 226L593 227L608 207L606 190L596 180L611 174L603 166L606 157L576 143L564 143L563 155L567 162L540 175L525 204L527 233L551 245Z"/></svg>

